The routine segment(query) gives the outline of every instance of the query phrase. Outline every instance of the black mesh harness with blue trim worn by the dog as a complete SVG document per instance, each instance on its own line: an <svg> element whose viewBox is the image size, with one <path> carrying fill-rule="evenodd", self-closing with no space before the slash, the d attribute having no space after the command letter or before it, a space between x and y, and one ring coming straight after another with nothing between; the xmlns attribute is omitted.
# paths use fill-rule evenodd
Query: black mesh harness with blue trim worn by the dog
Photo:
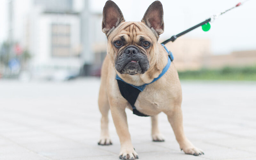
<svg viewBox="0 0 256 160"><path fill-rule="evenodd" d="M168 58L167 65L162 70L162 73L157 78L154 78L153 81L148 84L151 84L151 83L155 82L156 80L158 80L159 78L161 78L167 72L167 70L170 68L171 61L173 61L172 52L168 51L168 49L164 46L164 44L162 44L162 46L168 53L169 58ZM133 114L135 114L137 116L148 116L148 115L144 115L143 113L140 113L134 106L134 103L135 103L136 99L138 98L139 93L142 92L148 84L143 84L141 86L135 86L135 85L126 83L117 74L116 74L116 80L117 80L118 87L119 87L119 90L120 90L122 96L131 104Z"/></svg>

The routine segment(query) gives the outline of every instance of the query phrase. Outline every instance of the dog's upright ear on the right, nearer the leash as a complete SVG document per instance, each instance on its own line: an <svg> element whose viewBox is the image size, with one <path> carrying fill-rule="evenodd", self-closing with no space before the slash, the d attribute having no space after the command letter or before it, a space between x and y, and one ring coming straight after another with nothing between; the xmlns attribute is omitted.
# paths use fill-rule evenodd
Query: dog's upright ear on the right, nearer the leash
<svg viewBox="0 0 256 160"><path fill-rule="evenodd" d="M161 35L164 32L164 11L160 1L155 1L148 7L141 22L149 28L153 28L156 33Z"/></svg>

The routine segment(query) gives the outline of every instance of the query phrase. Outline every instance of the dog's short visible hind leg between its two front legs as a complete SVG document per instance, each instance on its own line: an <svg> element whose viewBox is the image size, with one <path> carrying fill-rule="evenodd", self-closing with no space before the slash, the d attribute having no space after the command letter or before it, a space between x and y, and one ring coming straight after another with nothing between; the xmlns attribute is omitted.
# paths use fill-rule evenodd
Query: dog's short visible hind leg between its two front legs
<svg viewBox="0 0 256 160"><path fill-rule="evenodd" d="M151 116L151 123L152 123L151 134L152 134L153 141L163 142L164 136L160 133L159 128L158 128L158 115Z"/></svg>

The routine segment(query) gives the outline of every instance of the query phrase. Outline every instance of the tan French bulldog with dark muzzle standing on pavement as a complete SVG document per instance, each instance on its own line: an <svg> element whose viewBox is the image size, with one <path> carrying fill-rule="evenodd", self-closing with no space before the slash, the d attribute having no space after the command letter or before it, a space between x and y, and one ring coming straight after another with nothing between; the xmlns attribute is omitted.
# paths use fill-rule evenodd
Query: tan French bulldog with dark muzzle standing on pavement
<svg viewBox="0 0 256 160"><path fill-rule="evenodd" d="M183 131L181 86L174 63L171 63L161 78L151 83L168 63L166 50L157 42L159 35L164 32L161 2L153 2L141 22L125 22L119 7L109 0L103 8L102 31L107 36L108 44L101 69L98 103L102 117L98 144L112 144L108 132L110 109L121 143L119 158L139 158L132 146L125 113L125 108L133 108L119 90L116 79L118 76L133 86L148 84L144 91L140 92L134 106L140 113L151 116L153 141L164 141L157 120L157 115L164 112L180 149L194 156L204 154L186 138Z"/></svg>

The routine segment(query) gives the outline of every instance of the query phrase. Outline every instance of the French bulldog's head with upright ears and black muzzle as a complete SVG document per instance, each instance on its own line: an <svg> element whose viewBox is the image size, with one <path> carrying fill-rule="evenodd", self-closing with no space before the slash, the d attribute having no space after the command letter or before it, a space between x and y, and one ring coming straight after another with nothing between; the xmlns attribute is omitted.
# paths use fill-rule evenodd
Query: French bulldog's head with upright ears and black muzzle
<svg viewBox="0 0 256 160"><path fill-rule="evenodd" d="M157 40L164 32L163 6L153 2L141 22L125 22L113 1L103 9L102 31L108 38L107 53L120 74L143 74L156 63Z"/></svg>

